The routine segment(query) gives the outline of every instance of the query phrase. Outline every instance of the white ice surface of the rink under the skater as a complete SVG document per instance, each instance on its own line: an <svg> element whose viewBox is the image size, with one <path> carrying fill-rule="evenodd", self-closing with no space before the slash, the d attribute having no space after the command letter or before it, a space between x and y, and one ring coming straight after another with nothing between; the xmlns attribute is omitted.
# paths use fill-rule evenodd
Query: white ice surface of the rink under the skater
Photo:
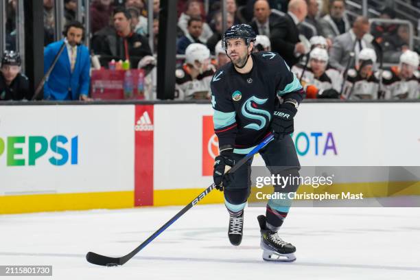
<svg viewBox="0 0 420 280"><path fill-rule="evenodd" d="M181 207L0 215L0 265L52 265L53 277L1 279L420 279L420 208L292 208L281 235L291 264L261 259L257 215L246 208L233 247L223 205L196 206L124 266L86 253L126 255Z"/></svg>

